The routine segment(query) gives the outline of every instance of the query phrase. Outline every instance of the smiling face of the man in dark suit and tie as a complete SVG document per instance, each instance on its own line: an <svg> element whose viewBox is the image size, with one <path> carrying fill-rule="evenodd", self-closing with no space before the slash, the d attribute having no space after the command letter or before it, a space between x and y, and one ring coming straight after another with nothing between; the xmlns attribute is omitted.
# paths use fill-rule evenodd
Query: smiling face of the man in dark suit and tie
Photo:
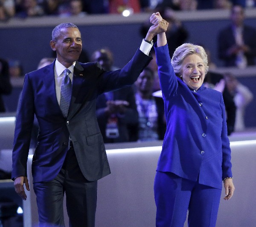
<svg viewBox="0 0 256 227"><path fill-rule="evenodd" d="M80 31L77 28L63 28L58 40L50 42L52 50L56 51L57 59L66 68L78 60L82 50Z"/></svg>

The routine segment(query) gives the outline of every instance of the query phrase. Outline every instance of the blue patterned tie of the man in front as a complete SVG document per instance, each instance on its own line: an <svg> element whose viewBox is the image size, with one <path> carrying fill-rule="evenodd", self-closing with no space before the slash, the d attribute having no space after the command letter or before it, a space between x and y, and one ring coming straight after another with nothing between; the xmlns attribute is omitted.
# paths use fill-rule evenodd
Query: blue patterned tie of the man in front
<svg viewBox="0 0 256 227"><path fill-rule="evenodd" d="M68 76L70 74L70 70L66 68L64 70L64 76L61 82L61 102L60 102L60 108L65 117L67 117L69 105L70 105L70 99L72 94L72 82L70 80L70 77Z"/></svg>

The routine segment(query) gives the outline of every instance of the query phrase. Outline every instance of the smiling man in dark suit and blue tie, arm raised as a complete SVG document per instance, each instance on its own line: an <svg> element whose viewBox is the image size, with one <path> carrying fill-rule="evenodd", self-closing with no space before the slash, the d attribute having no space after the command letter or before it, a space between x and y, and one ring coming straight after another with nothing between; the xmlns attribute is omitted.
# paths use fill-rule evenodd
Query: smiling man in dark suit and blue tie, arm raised
<svg viewBox="0 0 256 227"><path fill-rule="evenodd" d="M161 30L149 28L140 50L122 70L104 71L98 63L77 62L82 41L75 25L64 23L53 29L50 46L57 59L25 75L12 157L15 190L26 199L23 184L29 190L26 162L35 113L39 133L32 176L40 227L64 226L64 193L70 227L94 227L97 180L110 173L96 119L96 98L136 81L151 60L150 40ZM72 95L62 108L63 98L68 97L63 91L69 90L63 89L64 82L67 86L72 82Z"/></svg>

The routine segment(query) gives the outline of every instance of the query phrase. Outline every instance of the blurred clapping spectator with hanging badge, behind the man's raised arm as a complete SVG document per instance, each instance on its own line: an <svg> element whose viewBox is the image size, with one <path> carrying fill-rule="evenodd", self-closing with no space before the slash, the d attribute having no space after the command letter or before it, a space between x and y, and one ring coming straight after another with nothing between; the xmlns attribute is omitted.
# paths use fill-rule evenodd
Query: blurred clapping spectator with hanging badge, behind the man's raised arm
<svg viewBox="0 0 256 227"><path fill-rule="evenodd" d="M107 48L95 51L92 62L99 62L106 71L113 66L113 54ZM136 141L138 112L132 87L101 94L96 102L96 116L105 143Z"/></svg>

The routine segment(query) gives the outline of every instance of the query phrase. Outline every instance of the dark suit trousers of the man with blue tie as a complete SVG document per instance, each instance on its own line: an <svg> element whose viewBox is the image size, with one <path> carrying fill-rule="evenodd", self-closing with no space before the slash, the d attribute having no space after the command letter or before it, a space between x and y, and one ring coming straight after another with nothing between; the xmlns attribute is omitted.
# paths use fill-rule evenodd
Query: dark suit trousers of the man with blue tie
<svg viewBox="0 0 256 227"><path fill-rule="evenodd" d="M94 227L97 181L87 181L81 173L73 148L55 179L34 183L40 227L64 227L63 196L66 193L70 227Z"/></svg>

